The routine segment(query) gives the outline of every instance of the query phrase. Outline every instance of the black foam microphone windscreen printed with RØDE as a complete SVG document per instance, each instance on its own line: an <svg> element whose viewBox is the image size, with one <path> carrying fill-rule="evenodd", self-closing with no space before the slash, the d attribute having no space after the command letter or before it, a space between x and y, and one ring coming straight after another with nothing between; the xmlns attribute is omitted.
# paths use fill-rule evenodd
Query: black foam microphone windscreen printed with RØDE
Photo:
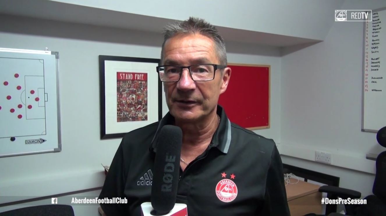
<svg viewBox="0 0 386 216"><path fill-rule="evenodd" d="M161 128L151 187L151 205L156 211L154 215L169 213L176 203L181 145L181 128L173 125Z"/></svg>

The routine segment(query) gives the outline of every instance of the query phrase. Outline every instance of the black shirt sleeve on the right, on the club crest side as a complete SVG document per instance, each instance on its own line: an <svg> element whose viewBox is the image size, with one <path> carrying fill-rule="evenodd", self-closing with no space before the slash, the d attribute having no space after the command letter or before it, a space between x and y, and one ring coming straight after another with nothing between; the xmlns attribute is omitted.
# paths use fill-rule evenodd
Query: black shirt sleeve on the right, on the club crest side
<svg viewBox="0 0 386 216"><path fill-rule="evenodd" d="M274 146L271 163L269 164L264 207L261 215L289 216L287 193L284 186L283 164L276 145Z"/></svg>

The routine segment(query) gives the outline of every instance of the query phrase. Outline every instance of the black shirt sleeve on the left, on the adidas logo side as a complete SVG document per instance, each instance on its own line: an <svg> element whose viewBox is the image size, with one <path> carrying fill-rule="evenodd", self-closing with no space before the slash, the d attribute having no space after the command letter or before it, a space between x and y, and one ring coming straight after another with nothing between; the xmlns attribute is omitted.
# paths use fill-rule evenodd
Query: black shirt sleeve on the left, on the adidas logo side
<svg viewBox="0 0 386 216"><path fill-rule="evenodd" d="M121 197L124 198L125 190L125 174L124 174L124 157L122 145L124 139L120 143L117 152L113 158L113 161L108 170L105 183L103 184L102 191L100 192L99 199ZM106 216L129 216L129 212L125 210L127 204L100 204L103 212Z"/></svg>

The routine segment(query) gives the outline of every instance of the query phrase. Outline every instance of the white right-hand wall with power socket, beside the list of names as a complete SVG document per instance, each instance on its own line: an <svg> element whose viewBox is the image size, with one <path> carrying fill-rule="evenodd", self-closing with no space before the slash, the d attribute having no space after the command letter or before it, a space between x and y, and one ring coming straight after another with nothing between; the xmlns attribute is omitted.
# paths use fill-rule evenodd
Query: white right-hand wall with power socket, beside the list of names
<svg viewBox="0 0 386 216"><path fill-rule="evenodd" d="M342 9L385 6L346 1ZM361 132L362 44L362 22L335 22L323 42L283 49L280 152L293 156L283 156L284 163L339 176L340 186L366 196L375 172L366 154L385 149L375 133ZM332 153L335 166L310 162L315 150Z"/></svg>

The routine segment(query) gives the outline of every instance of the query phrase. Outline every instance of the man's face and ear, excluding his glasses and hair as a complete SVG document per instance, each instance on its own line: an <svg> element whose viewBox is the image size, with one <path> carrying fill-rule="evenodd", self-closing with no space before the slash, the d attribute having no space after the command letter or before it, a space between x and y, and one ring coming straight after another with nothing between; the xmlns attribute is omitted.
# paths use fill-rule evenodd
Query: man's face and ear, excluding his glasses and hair
<svg viewBox="0 0 386 216"><path fill-rule="evenodd" d="M201 34L179 34L164 45L163 65L190 66L194 64L220 64L212 39ZM174 118L197 121L215 110L220 94L225 92L230 68L215 72L210 81L193 81L188 69L183 69L178 82L165 82L166 103Z"/></svg>

